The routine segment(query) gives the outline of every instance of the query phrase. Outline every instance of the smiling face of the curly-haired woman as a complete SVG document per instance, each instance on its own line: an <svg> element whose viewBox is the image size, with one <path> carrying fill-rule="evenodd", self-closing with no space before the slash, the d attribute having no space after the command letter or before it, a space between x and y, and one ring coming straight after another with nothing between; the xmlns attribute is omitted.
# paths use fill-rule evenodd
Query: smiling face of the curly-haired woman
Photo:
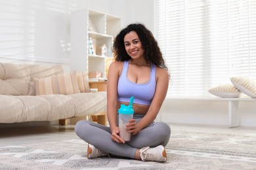
<svg viewBox="0 0 256 170"><path fill-rule="evenodd" d="M132 59L144 58L144 49L140 42L139 36L135 31L131 31L123 38L125 50Z"/></svg>

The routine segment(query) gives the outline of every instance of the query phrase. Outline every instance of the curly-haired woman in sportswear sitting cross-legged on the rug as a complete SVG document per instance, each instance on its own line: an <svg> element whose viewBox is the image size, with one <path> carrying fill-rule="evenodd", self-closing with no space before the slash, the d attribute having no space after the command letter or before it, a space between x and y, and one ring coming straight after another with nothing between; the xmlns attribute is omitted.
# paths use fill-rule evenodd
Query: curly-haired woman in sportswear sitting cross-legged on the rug
<svg viewBox="0 0 256 170"><path fill-rule="evenodd" d="M115 59L108 70L107 115L110 127L81 120L75 133L89 143L87 158L114 154L142 161L166 161L164 146L169 142L170 127L154 122L165 99L169 74L160 48L143 24L130 24L117 35ZM133 118L126 126L131 140L119 137L118 113L121 104L134 97Z"/></svg>

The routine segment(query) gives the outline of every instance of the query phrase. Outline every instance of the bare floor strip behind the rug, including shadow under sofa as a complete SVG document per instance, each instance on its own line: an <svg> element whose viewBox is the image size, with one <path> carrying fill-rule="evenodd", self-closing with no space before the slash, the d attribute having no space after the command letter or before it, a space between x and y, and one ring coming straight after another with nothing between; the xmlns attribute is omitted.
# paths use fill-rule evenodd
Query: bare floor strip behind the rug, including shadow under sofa
<svg viewBox="0 0 256 170"><path fill-rule="evenodd" d="M238 133L256 133L256 127L204 126L190 124L170 124L173 130L232 131ZM49 123L0 124L0 146L29 144L60 139L79 139L74 126L58 126Z"/></svg>

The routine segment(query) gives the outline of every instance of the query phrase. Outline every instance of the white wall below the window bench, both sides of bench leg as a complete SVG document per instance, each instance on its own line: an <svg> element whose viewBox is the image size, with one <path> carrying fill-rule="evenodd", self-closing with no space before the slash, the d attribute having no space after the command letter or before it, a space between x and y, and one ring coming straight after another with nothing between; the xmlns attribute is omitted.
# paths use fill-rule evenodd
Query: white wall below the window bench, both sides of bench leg
<svg viewBox="0 0 256 170"><path fill-rule="evenodd" d="M256 127L255 101L240 101L240 126ZM165 99L158 120L169 123L228 127L228 101L173 101Z"/></svg>

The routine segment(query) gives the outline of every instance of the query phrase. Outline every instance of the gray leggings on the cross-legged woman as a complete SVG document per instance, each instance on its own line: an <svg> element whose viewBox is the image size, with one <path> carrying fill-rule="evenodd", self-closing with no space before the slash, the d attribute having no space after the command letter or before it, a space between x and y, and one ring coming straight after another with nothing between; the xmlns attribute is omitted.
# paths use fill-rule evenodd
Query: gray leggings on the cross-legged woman
<svg viewBox="0 0 256 170"><path fill-rule="evenodd" d="M139 122L142 116L136 115L134 118L136 122ZM139 131L137 135L131 136L131 140L125 142L125 144L112 141L110 127L88 120L77 122L75 133L83 141L93 144L100 150L116 156L135 158L137 148L143 148L145 146L155 147L160 144L166 146L171 135L171 128L164 122L152 122L150 126Z"/></svg>

